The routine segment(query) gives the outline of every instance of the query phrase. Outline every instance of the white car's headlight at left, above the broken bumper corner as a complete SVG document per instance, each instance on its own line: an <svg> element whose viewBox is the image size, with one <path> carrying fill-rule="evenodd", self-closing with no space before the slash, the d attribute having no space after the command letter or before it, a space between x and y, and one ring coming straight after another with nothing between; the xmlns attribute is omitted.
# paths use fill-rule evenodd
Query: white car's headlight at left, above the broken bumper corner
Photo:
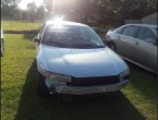
<svg viewBox="0 0 158 120"><path fill-rule="evenodd" d="M40 71L40 72L46 79L52 80L53 82L71 82L71 76L69 75L52 73L48 71Z"/></svg>

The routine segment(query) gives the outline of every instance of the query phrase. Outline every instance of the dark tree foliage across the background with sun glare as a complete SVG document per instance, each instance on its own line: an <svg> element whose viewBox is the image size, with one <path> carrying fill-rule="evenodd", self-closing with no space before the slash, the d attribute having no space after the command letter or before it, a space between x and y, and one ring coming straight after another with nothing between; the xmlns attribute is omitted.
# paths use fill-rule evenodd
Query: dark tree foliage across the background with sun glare
<svg viewBox="0 0 158 120"><path fill-rule="evenodd" d="M139 20L153 10L157 10L156 0L44 0L40 7L34 2L27 10L20 10L17 1L2 0L2 19L45 21L56 15L86 24L121 25L124 20Z"/></svg>

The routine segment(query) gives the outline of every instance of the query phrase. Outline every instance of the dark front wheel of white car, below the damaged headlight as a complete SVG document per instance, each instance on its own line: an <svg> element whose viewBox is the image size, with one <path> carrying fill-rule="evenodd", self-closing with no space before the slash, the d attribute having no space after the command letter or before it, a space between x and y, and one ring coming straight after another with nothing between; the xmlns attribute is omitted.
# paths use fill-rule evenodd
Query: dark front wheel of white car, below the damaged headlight
<svg viewBox="0 0 158 120"><path fill-rule="evenodd" d="M37 80L38 80L38 94L40 97L47 97L49 96L49 88L46 86L46 83L45 83L45 77L39 73L37 72Z"/></svg>

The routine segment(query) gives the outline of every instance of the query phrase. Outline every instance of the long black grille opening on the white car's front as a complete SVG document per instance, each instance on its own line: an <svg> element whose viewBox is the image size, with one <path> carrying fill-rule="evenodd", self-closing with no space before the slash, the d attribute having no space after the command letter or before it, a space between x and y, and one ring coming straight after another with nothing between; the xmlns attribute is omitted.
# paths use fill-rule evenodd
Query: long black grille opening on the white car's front
<svg viewBox="0 0 158 120"><path fill-rule="evenodd" d="M69 86L98 86L119 83L119 76L96 76L96 77L72 77L72 81L66 83Z"/></svg>

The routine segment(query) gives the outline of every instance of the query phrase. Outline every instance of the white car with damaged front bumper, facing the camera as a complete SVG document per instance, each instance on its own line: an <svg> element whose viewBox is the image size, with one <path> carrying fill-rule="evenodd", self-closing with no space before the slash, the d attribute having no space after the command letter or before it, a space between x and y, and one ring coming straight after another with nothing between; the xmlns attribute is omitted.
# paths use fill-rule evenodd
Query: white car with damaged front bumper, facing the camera
<svg viewBox="0 0 158 120"><path fill-rule="evenodd" d="M129 67L87 25L47 21L38 36L39 94L116 92L129 82Z"/></svg>

